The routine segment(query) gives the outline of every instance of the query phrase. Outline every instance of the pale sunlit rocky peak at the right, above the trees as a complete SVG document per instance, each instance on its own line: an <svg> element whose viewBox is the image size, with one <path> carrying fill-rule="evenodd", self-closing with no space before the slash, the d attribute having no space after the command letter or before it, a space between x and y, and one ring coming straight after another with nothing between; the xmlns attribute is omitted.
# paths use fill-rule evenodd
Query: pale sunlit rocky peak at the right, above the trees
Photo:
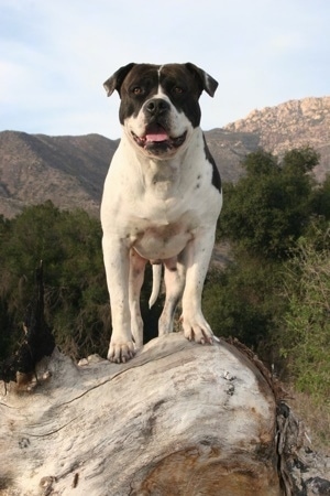
<svg viewBox="0 0 330 496"><path fill-rule="evenodd" d="M317 179L321 181L330 172L330 97L289 100L253 110L224 130L257 136L261 147L278 155L290 148L309 144L321 154L315 171Z"/></svg>

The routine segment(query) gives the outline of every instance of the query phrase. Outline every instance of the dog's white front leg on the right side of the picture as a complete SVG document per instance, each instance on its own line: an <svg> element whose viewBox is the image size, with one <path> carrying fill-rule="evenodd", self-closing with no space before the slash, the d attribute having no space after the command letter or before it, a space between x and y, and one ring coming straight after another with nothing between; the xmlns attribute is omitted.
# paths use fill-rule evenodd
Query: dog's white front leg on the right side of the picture
<svg viewBox="0 0 330 496"><path fill-rule="evenodd" d="M197 343L213 343L213 333L201 312L201 293L215 245L215 228L199 229L185 248L186 285L183 294L185 337Z"/></svg>

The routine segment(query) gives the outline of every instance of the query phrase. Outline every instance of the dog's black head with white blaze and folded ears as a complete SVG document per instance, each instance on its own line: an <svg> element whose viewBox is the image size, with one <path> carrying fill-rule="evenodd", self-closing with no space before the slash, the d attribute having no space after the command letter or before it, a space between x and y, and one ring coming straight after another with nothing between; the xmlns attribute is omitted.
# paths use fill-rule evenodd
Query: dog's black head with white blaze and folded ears
<svg viewBox="0 0 330 496"><path fill-rule="evenodd" d="M167 158L187 143L200 123L198 99L218 83L194 64L128 64L107 82L118 90L120 122L129 140L148 157Z"/></svg>

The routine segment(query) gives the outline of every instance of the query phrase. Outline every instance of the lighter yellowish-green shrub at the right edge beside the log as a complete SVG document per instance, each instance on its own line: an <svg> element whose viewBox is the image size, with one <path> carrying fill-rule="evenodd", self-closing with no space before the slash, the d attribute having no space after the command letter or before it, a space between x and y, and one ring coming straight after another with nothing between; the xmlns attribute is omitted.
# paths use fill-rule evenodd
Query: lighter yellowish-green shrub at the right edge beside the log
<svg viewBox="0 0 330 496"><path fill-rule="evenodd" d="M299 390L329 402L330 230L301 238L285 269L289 304L278 336L280 352Z"/></svg>

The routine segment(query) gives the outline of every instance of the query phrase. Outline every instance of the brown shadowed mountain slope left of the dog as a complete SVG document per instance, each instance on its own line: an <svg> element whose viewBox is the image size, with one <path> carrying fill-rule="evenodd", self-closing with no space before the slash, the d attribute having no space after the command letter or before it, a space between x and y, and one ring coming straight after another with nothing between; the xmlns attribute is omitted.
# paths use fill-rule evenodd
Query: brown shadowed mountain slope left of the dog
<svg viewBox="0 0 330 496"><path fill-rule="evenodd" d="M0 132L0 214L51 200L98 215L102 183L118 145L98 134L48 137Z"/></svg>

